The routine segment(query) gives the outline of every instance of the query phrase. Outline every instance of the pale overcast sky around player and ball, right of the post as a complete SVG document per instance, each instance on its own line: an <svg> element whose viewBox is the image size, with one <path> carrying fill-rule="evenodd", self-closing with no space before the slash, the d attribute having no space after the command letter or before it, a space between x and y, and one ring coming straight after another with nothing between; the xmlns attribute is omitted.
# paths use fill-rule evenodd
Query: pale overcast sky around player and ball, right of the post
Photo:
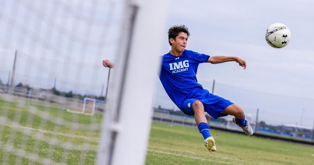
<svg viewBox="0 0 314 165"><path fill-rule="evenodd" d="M189 28L188 50L246 60L245 70L235 62L200 64L197 78L205 89L212 91L215 79L214 94L243 107L253 118L259 108L259 119L266 123L312 128L314 47L309 36L314 31L307 27L314 24L313 6L313 1L292 0L171 1L167 25ZM266 29L273 23L283 23L291 31L291 41L284 48L272 48L265 41ZM167 42L164 49L165 53L170 50ZM157 88L162 91L160 83ZM164 95L155 94L154 106L169 102L166 107L176 109Z"/></svg>

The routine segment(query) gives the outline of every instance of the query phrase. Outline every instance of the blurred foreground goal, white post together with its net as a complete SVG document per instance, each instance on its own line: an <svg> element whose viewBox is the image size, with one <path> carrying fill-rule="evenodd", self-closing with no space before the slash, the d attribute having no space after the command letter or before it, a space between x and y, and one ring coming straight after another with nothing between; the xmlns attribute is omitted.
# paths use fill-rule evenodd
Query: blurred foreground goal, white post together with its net
<svg viewBox="0 0 314 165"><path fill-rule="evenodd" d="M165 2L2 0L0 164L144 164Z"/></svg>

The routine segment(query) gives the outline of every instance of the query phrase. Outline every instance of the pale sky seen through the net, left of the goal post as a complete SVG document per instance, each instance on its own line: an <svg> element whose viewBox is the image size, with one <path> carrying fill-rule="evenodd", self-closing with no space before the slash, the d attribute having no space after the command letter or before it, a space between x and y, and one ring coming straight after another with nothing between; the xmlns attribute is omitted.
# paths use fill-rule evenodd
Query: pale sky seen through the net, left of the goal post
<svg viewBox="0 0 314 165"><path fill-rule="evenodd" d="M120 1L9 1L0 7L0 79L7 83L15 50L15 85L101 94L103 58L117 49ZM112 56L111 56L112 57Z"/></svg>

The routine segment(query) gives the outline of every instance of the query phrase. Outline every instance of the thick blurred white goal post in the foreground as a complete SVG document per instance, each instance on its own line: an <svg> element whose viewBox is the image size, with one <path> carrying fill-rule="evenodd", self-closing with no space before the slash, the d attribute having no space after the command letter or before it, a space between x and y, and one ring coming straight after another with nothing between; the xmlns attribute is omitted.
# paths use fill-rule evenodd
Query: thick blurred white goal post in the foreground
<svg viewBox="0 0 314 165"><path fill-rule="evenodd" d="M100 136L100 165L144 164L167 1L126 1ZM165 34L164 34L165 33ZM149 42L147 41L147 38ZM131 117L132 116L132 117Z"/></svg>

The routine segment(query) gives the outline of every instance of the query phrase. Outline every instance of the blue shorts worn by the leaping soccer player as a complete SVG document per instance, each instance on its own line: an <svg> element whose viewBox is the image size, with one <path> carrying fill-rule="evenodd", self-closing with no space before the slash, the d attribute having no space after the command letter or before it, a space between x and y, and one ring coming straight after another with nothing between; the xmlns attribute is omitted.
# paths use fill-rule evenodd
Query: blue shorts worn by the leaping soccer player
<svg viewBox="0 0 314 165"><path fill-rule="evenodd" d="M221 112L224 111L226 107L233 104L229 100L213 95L209 93L208 90L203 89L197 91L191 98L185 100L181 107L181 111L186 115L194 116L192 105L197 100L203 103L205 112L215 119L227 116L227 114Z"/></svg>

